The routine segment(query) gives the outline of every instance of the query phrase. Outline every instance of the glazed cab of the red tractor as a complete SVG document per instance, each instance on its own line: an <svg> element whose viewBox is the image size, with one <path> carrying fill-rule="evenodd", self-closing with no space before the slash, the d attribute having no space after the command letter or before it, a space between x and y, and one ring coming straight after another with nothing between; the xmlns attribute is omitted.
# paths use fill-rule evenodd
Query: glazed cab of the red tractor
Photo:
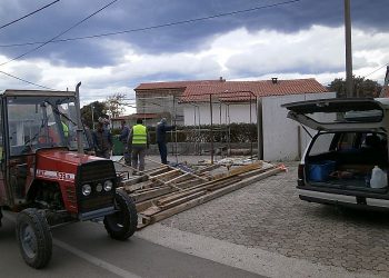
<svg viewBox="0 0 389 278"><path fill-rule="evenodd" d="M77 150L77 115L73 92L33 96L7 90L2 96L3 146L9 158L34 153L41 148ZM6 137L4 137L6 136ZM88 141L83 140L88 149Z"/></svg>

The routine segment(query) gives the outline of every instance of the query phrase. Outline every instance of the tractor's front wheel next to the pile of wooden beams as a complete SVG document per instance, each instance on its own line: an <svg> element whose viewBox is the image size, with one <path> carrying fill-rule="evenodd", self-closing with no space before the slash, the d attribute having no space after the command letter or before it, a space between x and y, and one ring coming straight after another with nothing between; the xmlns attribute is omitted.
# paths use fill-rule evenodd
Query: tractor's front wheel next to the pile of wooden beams
<svg viewBox="0 0 389 278"><path fill-rule="evenodd" d="M137 208L126 191L118 189L114 195L116 212L104 217L104 227L111 238L126 240L133 235L138 226Z"/></svg>

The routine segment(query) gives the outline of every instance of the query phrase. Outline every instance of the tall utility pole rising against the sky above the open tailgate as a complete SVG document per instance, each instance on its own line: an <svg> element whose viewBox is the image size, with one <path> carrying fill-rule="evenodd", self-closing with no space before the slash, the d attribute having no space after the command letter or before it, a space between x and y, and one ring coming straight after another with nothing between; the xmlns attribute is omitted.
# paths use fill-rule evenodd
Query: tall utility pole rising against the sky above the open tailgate
<svg viewBox="0 0 389 278"><path fill-rule="evenodd" d="M351 12L350 0L345 0L345 34L346 34L346 95L356 97L352 90L352 51L351 51Z"/></svg>

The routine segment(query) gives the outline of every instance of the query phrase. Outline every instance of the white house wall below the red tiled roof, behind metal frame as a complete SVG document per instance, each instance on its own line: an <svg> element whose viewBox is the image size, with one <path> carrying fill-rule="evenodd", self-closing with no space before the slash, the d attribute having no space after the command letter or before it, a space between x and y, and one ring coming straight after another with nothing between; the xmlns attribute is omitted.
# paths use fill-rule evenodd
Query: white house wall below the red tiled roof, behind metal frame
<svg viewBox="0 0 389 278"><path fill-rule="evenodd" d="M257 105L251 105L251 122L257 122ZM199 117L200 116L200 117ZM211 113L209 103L196 103L183 106L183 120L186 126L210 125ZM194 122L196 120L196 122ZM231 123L231 122L250 122L250 105L219 105L212 106L212 122Z"/></svg>

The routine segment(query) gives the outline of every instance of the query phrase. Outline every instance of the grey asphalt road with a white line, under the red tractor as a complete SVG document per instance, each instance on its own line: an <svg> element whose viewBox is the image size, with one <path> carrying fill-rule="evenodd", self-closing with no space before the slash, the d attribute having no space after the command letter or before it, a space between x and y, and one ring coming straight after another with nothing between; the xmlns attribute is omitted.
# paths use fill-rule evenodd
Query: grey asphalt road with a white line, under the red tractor
<svg viewBox="0 0 389 278"><path fill-rule="evenodd" d="M101 224L79 222L52 230L53 254L41 270L22 260L14 236L14 215L0 228L0 277L260 277L133 236L116 241Z"/></svg>

